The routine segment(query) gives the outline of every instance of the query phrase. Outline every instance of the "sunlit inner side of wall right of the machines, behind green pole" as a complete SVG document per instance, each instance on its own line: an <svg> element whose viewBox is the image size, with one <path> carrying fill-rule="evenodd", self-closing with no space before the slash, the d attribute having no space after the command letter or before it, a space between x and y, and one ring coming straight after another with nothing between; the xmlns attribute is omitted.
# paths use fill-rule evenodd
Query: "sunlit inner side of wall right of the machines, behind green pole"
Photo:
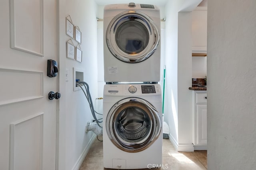
<svg viewBox="0 0 256 170"><path fill-rule="evenodd" d="M166 4L166 89L164 103L164 121L170 128L170 139L178 144L178 104L177 104L177 70L178 70L178 12L176 1Z"/></svg>

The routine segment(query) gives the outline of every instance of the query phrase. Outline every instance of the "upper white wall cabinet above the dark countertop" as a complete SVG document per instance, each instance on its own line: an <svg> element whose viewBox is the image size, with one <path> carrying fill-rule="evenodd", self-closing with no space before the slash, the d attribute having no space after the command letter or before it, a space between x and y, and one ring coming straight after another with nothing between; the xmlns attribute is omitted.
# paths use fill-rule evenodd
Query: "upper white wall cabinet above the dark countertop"
<svg viewBox="0 0 256 170"><path fill-rule="evenodd" d="M198 6L192 11L192 53L207 51L207 7Z"/></svg>

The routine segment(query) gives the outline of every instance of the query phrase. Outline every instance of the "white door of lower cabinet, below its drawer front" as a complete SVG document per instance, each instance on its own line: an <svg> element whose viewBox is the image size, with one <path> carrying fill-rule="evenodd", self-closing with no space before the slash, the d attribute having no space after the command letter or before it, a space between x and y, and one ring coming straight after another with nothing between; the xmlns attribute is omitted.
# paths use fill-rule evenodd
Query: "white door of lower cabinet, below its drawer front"
<svg viewBox="0 0 256 170"><path fill-rule="evenodd" d="M207 105L196 105L196 144L207 145Z"/></svg>

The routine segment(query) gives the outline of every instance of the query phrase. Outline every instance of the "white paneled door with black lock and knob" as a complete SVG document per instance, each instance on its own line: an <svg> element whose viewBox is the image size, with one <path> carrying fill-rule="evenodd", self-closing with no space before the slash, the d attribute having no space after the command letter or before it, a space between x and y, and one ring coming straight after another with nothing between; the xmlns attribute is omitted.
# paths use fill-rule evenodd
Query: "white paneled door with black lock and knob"
<svg viewBox="0 0 256 170"><path fill-rule="evenodd" d="M56 1L1 0L0 22L0 169L55 170Z"/></svg>

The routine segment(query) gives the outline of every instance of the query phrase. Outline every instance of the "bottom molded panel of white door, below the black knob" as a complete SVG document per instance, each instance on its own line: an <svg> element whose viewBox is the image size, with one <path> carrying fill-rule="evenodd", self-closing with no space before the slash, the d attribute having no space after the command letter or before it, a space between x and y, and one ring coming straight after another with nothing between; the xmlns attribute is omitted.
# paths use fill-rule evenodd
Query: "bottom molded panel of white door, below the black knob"
<svg viewBox="0 0 256 170"><path fill-rule="evenodd" d="M27 131L28 129L32 129L31 131ZM35 164L38 165L37 170L42 170L42 161L43 161L43 129L44 129L44 113L35 114L31 117L27 117L26 119L22 119L20 121L14 122L10 124L10 162L9 162L9 170L18 170L16 168L20 168L18 165L22 161L31 161L24 157L23 160L22 154L20 150L30 150L29 157L33 158ZM25 134L24 134L25 133ZM34 134L38 134L37 138L34 137ZM27 135L30 139L24 139ZM26 141L28 140L28 141ZM35 145L19 145L25 143L33 143ZM19 146L19 147L18 147ZM34 148L33 148L34 146ZM32 151L31 151L32 150ZM18 163L17 163L18 162ZM33 163L34 163L33 162ZM24 163L24 162L22 162ZM31 165L31 168L35 167Z"/></svg>

